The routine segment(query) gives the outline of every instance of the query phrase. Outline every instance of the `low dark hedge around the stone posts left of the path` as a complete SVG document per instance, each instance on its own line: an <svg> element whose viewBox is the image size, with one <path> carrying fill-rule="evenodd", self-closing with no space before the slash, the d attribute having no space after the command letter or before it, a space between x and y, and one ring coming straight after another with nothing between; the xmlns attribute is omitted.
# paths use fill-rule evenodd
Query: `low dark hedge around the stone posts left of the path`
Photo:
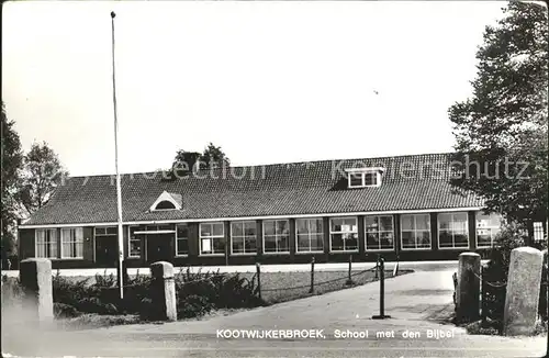
<svg viewBox="0 0 549 358"><path fill-rule="evenodd" d="M18 279L3 277L2 298L21 295ZM153 280L137 275L126 278L124 300L120 300L116 279L113 275L96 275L90 279L74 281L57 272L53 277L53 297L57 317L72 317L82 313L101 315L138 314L142 320L158 317L158 307L153 305ZM242 309L262 305L257 298L255 277L250 280L238 275L217 272L191 272L181 270L175 277L178 317L188 318L206 314L215 309ZM8 294L9 293L9 294Z"/></svg>

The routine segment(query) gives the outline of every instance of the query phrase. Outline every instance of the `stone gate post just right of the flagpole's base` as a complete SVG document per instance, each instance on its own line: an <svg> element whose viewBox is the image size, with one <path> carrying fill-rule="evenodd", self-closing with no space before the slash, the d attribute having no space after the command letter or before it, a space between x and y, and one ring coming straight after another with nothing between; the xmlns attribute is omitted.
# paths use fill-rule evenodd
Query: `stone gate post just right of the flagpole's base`
<svg viewBox="0 0 549 358"><path fill-rule="evenodd" d="M150 265L153 290L150 297L155 309L155 318L177 321L176 282L173 281L173 265L158 261Z"/></svg>

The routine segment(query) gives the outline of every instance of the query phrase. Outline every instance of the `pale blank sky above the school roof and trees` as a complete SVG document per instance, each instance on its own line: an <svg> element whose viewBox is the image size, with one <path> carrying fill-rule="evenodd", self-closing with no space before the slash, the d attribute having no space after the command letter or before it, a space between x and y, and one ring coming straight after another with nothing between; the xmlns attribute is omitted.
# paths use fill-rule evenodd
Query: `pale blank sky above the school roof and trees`
<svg viewBox="0 0 549 358"><path fill-rule="evenodd" d="M489 1L16 1L2 100L22 147L74 176L168 168L212 142L233 165L442 153L471 96Z"/></svg>

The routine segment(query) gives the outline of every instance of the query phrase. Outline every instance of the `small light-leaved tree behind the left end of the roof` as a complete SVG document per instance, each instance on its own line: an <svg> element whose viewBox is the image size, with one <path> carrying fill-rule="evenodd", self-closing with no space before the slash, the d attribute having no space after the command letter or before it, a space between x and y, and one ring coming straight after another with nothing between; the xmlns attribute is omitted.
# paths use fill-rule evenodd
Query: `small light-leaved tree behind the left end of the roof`
<svg viewBox="0 0 549 358"><path fill-rule="evenodd" d="M55 188L67 176L57 154L47 143L33 143L23 158L22 184L18 198L33 213L47 203Z"/></svg>

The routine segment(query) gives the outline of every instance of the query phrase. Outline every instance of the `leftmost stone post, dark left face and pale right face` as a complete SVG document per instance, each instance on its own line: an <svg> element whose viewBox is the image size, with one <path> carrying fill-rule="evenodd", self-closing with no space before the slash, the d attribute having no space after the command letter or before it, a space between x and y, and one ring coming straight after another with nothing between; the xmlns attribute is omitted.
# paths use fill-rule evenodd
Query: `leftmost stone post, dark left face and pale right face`
<svg viewBox="0 0 549 358"><path fill-rule="evenodd" d="M46 258L27 258L21 261L20 280L24 290L24 305L31 320L54 320L52 261Z"/></svg>

